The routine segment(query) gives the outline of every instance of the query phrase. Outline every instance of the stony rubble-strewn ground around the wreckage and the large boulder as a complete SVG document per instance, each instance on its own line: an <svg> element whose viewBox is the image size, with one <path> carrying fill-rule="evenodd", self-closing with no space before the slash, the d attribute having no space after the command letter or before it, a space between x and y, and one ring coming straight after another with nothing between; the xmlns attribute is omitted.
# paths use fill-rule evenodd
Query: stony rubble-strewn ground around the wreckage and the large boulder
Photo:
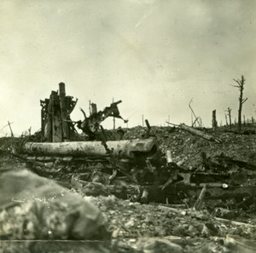
<svg viewBox="0 0 256 253"><path fill-rule="evenodd" d="M256 185L253 177L256 172L256 135L251 129L243 134L224 128L210 132L219 142L208 141L174 127L152 127L150 135L157 138L161 152L171 151L172 162L180 164L183 170L210 171L212 175L222 175L223 170L229 170L232 183L242 188ZM145 131L143 127L125 129L125 139L142 137ZM2 140L0 146L2 150L11 150L9 140ZM256 196L238 198L234 194L229 198L207 198L206 194L201 199L200 209L195 208L198 196L143 204L118 198L102 184L96 184L94 193L88 191L88 187L76 187L71 184L73 170L67 173L67 168L63 170L59 165L39 166L3 151L0 158L0 171L12 170L13 167L39 171L38 174L67 186L71 193L79 193L101 210L103 223L110 233L107 241L94 242L65 240L52 244L51 241L21 240L14 243L7 239L0 241L0 252L256 251ZM53 173L44 174L44 170ZM250 170L252 175L246 178L246 183L245 170ZM0 216L3 216L3 210Z"/></svg>

